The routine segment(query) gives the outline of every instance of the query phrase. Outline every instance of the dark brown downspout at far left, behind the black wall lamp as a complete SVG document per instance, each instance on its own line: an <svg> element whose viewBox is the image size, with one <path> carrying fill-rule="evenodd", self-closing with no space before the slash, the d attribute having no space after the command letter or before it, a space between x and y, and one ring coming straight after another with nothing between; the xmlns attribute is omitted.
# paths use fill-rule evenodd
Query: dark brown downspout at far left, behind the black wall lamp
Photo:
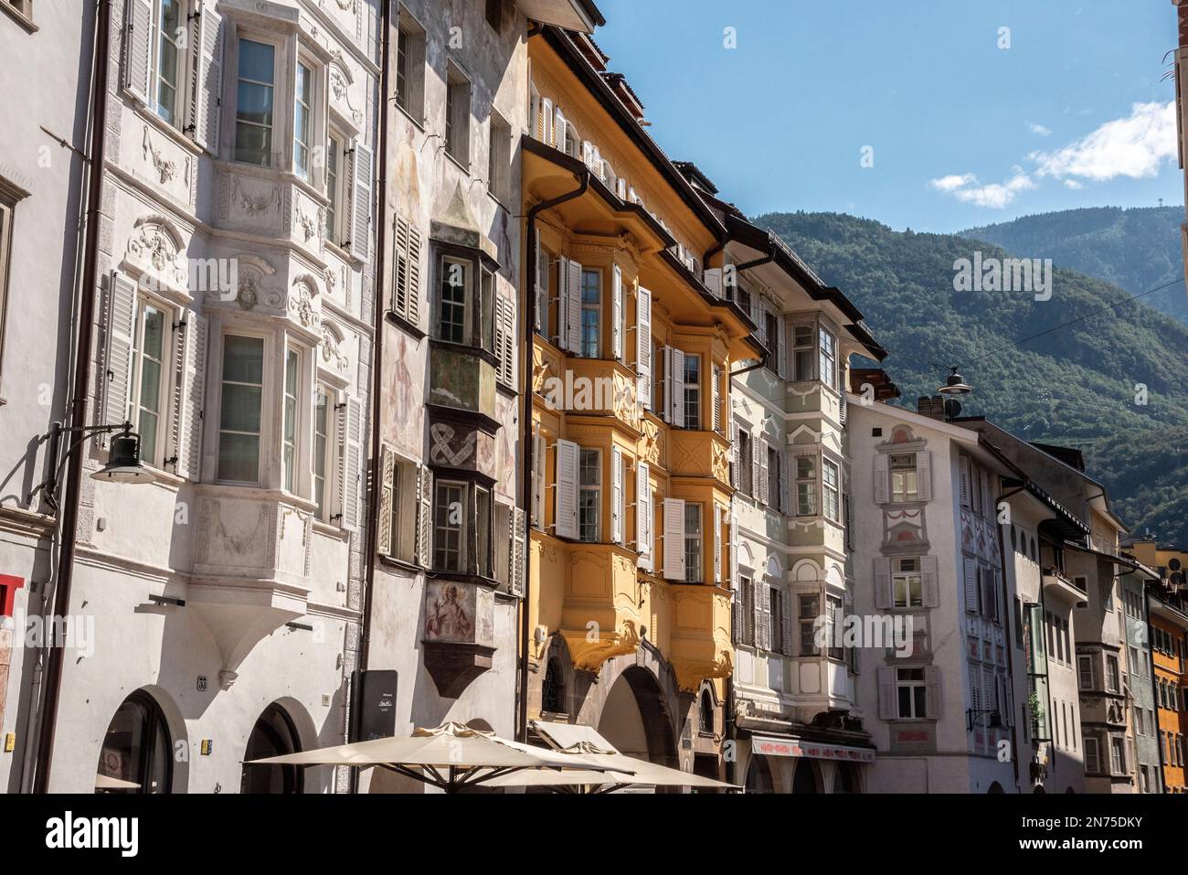
<svg viewBox="0 0 1188 875"><path fill-rule="evenodd" d="M87 421L87 389L90 376L90 357L95 321L95 289L99 273L99 232L103 188L103 169L107 160L107 96L108 62L112 55L112 0L97 0L95 8L95 58L91 68L91 95L94 114L90 122L90 176L87 181L87 203L83 221L83 269L81 294L78 295L78 339L74 361L72 398L69 423L81 426ZM77 441L69 451L65 501L62 511L62 534L58 553L57 585L53 587L53 615L64 617L70 610L70 584L74 577L75 541L78 530L78 492L82 485L82 446ZM37 741L37 764L33 775L33 792L48 793L50 769L53 766L53 735L58 718L58 698L62 693L63 648L51 647L45 679L45 701L42 725Z"/></svg>

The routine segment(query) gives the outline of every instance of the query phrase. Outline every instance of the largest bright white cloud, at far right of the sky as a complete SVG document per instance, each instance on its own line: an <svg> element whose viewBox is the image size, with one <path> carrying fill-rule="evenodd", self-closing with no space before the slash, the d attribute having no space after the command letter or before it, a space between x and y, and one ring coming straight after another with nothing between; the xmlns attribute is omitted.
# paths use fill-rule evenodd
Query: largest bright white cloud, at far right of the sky
<svg viewBox="0 0 1188 875"><path fill-rule="evenodd" d="M1119 176L1155 176L1176 156L1176 105L1135 103L1130 115L1054 152L1032 152L1038 176L1080 177L1102 182Z"/></svg>

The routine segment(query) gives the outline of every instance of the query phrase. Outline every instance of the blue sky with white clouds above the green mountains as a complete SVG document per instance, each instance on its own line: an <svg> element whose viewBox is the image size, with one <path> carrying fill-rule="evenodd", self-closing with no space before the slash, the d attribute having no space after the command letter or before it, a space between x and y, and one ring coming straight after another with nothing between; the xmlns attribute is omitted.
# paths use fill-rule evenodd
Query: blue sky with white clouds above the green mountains
<svg viewBox="0 0 1188 875"><path fill-rule="evenodd" d="M651 133L750 215L944 232L1183 202L1168 0L598 4Z"/></svg>

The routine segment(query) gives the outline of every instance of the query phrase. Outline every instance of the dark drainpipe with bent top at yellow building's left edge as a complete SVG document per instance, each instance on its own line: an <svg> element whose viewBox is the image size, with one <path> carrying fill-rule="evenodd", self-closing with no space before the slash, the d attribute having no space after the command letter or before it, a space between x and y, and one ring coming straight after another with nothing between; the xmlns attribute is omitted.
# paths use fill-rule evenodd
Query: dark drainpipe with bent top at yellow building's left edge
<svg viewBox="0 0 1188 875"><path fill-rule="evenodd" d="M524 460L524 470L520 472L520 485L523 487L524 502L527 505L526 510L529 514L532 512L531 496L532 496L532 369L530 365L530 355L532 354L532 332L536 325L536 218L546 209L552 209L554 207L560 207L567 201L571 201L576 197L581 197L586 194L586 190L590 184L590 170L587 166L582 168L581 184L573 191L567 191L563 195L554 197L551 201L542 201L532 207L527 212L527 234L525 235L526 252L525 252L525 269L522 272L524 277L524 287L526 290L525 297L527 303L527 311L524 319L524 335L525 335L525 354L520 358L522 370L524 371L524 413L523 413L523 424L520 426L520 458ZM548 316L548 314L545 314ZM531 528L531 522L529 527ZM519 715L518 715L518 737L523 743L527 743L527 642L529 642L529 628L527 628L527 605L529 599L532 596L532 539L526 536L524 539L524 592L520 599L520 684L519 684Z"/></svg>

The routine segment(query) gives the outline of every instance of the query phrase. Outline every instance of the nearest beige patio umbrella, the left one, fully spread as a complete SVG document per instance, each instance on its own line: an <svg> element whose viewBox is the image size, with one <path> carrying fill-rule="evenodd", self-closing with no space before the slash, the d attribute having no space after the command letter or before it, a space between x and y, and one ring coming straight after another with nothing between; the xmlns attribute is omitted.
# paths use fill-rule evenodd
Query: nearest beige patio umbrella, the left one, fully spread
<svg viewBox="0 0 1188 875"><path fill-rule="evenodd" d="M494 732L472 729L461 723L444 723L436 729L415 729L411 736L375 738L270 756L245 764L378 767L447 793L456 793L465 787L494 786L491 781L497 778L529 769L604 770L604 767L584 757L518 745L499 738Z"/></svg>

